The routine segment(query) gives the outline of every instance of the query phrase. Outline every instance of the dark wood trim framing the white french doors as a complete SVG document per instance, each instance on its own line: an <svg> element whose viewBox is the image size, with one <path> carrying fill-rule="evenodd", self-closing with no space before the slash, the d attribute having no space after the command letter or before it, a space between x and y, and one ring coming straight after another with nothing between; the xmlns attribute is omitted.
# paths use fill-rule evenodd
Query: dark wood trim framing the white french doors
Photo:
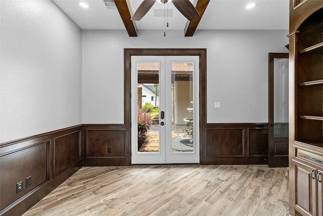
<svg viewBox="0 0 323 216"><path fill-rule="evenodd" d="M125 144L130 152L129 158L131 158L131 56L199 56L200 163L203 164L201 147L202 143L205 142L206 124L206 49L124 49ZM129 161L131 163L131 160Z"/></svg>

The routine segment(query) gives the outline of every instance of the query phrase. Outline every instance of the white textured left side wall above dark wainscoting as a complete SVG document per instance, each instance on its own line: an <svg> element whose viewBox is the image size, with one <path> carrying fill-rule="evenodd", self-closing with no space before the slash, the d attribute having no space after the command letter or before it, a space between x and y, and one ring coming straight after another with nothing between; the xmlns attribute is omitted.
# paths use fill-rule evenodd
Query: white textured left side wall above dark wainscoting
<svg viewBox="0 0 323 216"><path fill-rule="evenodd" d="M81 29L52 1L0 1L0 143L82 123Z"/></svg>

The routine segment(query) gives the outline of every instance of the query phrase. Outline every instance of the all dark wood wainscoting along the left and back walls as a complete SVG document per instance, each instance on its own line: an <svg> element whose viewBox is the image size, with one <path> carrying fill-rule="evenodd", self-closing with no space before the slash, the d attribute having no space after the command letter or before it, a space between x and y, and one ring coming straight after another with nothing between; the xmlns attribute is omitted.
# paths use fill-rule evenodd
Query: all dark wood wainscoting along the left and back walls
<svg viewBox="0 0 323 216"><path fill-rule="evenodd" d="M0 215L22 215L81 166L131 165L129 133L125 124L84 124L0 144ZM266 164L267 154L266 123L201 130L201 164Z"/></svg>

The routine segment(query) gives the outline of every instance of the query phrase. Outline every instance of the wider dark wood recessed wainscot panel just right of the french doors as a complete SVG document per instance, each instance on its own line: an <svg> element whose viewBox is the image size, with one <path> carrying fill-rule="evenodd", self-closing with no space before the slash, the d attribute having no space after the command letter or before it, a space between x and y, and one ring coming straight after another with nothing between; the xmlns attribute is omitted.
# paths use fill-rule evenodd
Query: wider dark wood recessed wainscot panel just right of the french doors
<svg viewBox="0 0 323 216"><path fill-rule="evenodd" d="M206 129L206 157L242 157L243 128Z"/></svg>

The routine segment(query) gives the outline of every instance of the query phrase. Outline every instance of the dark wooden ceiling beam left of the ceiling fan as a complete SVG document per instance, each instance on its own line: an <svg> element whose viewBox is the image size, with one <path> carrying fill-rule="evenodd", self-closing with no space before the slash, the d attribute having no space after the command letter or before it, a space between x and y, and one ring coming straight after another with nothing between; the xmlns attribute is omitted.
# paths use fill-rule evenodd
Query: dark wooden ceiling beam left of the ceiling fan
<svg viewBox="0 0 323 216"><path fill-rule="evenodd" d="M122 18L122 21L125 24L125 27L128 31L129 36L136 37L137 36L137 26L134 23L134 21L130 20L131 14L130 14L127 0L114 0L114 1L117 6L117 9L119 11L119 14Z"/></svg>

